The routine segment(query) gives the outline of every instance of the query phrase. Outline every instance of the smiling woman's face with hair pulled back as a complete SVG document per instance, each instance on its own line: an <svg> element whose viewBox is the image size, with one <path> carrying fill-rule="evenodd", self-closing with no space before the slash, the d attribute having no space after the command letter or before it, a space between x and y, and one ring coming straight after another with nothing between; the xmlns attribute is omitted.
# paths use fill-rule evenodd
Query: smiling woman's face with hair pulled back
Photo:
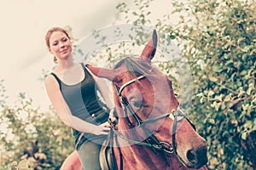
<svg viewBox="0 0 256 170"><path fill-rule="evenodd" d="M72 53L72 43L62 31L54 31L49 37L49 52L57 59L67 59Z"/></svg>

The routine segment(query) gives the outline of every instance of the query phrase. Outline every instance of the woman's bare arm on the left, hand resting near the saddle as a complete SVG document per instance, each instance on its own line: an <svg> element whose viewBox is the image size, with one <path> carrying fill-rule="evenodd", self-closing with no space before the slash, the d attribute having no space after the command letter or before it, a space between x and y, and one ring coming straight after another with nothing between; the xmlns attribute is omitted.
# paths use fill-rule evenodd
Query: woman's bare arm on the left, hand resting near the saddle
<svg viewBox="0 0 256 170"><path fill-rule="evenodd" d="M73 127L82 133L94 133L96 135L108 134L109 127L96 126L90 122L83 121L77 116L72 115L54 77L46 77L44 83L51 104L54 106L55 111L61 118L61 121L64 122L67 126Z"/></svg>

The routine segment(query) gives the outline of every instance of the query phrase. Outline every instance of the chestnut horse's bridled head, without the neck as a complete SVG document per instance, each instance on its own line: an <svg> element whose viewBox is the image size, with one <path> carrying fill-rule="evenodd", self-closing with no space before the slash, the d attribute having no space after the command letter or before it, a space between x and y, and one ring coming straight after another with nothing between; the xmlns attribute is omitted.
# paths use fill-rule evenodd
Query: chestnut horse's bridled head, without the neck
<svg viewBox="0 0 256 170"><path fill-rule="evenodd" d="M113 82L119 130L135 129L125 137L137 135L133 139L158 144L166 156L174 152L186 167L200 168L207 163L206 141L180 110L169 77L151 65L156 44L154 31L140 58L122 59L112 74L101 76Z"/></svg>

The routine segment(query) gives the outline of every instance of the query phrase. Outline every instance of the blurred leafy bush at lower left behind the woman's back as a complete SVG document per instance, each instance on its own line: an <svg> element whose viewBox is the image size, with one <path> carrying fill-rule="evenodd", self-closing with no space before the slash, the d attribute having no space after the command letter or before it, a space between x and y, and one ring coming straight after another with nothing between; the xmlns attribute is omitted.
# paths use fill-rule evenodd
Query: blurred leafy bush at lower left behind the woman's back
<svg viewBox="0 0 256 170"><path fill-rule="evenodd" d="M15 106L5 105L1 111L4 130L0 132L0 169L59 169L74 150L71 130L55 116L55 111L34 108L32 99L20 94Z"/></svg>

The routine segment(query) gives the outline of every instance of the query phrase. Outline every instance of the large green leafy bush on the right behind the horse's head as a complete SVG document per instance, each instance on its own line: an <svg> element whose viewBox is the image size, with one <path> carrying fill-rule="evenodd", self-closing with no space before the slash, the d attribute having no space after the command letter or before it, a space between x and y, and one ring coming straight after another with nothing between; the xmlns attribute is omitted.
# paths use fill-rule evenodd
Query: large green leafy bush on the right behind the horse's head
<svg viewBox="0 0 256 170"><path fill-rule="evenodd" d="M128 23L155 25L164 38L176 40L188 59L194 79L189 118L207 139L207 167L256 168L255 2L172 1L174 10L156 23L150 20L151 2L134 0L134 10L126 3L118 8ZM175 64L162 66L170 70Z"/></svg>

